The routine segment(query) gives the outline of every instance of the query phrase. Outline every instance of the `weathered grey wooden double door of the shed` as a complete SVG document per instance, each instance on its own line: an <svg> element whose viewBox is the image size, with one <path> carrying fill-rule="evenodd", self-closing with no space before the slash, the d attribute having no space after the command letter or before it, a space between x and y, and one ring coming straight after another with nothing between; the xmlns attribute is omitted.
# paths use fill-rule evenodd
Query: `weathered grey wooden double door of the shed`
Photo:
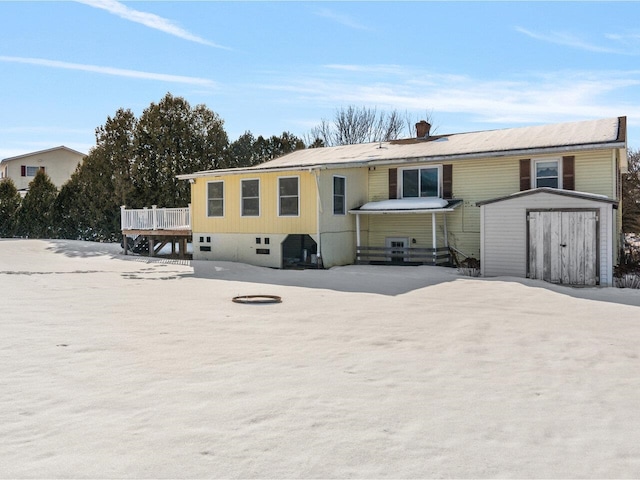
<svg viewBox="0 0 640 480"><path fill-rule="evenodd" d="M566 285L596 285L594 210L529 212L529 277Z"/></svg>

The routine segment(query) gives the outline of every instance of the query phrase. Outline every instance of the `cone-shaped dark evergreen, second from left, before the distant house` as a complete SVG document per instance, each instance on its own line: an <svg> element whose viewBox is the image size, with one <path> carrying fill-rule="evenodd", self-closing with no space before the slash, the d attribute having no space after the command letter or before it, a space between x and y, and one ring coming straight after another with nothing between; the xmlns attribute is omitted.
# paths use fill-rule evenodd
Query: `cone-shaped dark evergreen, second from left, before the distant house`
<svg viewBox="0 0 640 480"><path fill-rule="evenodd" d="M54 237L54 202L57 196L58 189L49 175L38 170L18 210L18 234L31 238Z"/></svg>

